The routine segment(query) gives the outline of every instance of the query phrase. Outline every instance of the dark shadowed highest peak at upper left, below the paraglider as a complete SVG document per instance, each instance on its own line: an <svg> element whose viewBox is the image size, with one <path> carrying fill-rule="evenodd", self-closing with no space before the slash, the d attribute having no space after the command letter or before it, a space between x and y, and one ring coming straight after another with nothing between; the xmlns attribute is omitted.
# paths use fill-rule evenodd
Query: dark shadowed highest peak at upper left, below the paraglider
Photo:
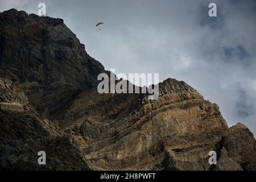
<svg viewBox="0 0 256 182"><path fill-rule="evenodd" d="M105 72L62 19L15 9L0 14L0 66L0 76L20 82L31 105L53 120Z"/></svg>

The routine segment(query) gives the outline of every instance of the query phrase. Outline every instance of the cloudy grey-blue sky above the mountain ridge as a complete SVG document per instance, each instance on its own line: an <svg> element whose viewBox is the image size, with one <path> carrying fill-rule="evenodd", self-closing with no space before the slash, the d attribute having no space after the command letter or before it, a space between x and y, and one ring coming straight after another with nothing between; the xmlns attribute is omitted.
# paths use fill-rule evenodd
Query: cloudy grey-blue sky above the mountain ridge
<svg viewBox="0 0 256 182"><path fill-rule="evenodd" d="M241 122L255 136L255 0L0 0L0 11L37 14L40 2L105 69L183 80L220 107L229 127ZM217 17L208 15L211 2Z"/></svg>

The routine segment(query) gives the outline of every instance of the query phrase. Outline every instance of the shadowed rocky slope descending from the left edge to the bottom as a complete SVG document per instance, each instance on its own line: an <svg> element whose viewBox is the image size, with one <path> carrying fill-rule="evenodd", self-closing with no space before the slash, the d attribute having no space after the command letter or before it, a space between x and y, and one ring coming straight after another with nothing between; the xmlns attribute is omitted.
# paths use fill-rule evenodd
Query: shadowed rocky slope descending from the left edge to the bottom
<svg viewBox="0 0 256 182"><path fill-rule="evenodd" d="M0 101L0 169L90 169L73 137L40 118L18 85L0 78ZM45 166L39 151L46 151Z"/></svg>

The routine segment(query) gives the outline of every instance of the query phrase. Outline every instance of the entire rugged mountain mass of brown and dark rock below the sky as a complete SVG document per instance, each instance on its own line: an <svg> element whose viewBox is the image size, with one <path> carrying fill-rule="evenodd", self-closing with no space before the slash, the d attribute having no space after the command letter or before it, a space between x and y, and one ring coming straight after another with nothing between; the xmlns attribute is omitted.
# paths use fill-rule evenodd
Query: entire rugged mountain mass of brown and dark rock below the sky
<svg viewBox="0 0 256 182"><path fill-rule="evenodd" d="M255 170L256 141L183 81L99 94L108 71L61 19L0 14L0 168ZM37 163L46 151L47 165ZM208 153L217 152L210 166Z"/></svg>

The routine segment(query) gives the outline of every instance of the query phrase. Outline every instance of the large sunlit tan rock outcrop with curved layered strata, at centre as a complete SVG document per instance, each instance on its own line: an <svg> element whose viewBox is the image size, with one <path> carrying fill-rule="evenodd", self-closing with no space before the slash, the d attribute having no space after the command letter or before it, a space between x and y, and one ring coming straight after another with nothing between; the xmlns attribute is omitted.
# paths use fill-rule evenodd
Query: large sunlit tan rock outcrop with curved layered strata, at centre
<svg viewBox="0 0 256 182"><path fill-rule="evenodd" d="M209 169L208 152L228 130L218 106L174 79L159 93L156 101L84 93L67 111L65 132L95 169Z"/></svg>

